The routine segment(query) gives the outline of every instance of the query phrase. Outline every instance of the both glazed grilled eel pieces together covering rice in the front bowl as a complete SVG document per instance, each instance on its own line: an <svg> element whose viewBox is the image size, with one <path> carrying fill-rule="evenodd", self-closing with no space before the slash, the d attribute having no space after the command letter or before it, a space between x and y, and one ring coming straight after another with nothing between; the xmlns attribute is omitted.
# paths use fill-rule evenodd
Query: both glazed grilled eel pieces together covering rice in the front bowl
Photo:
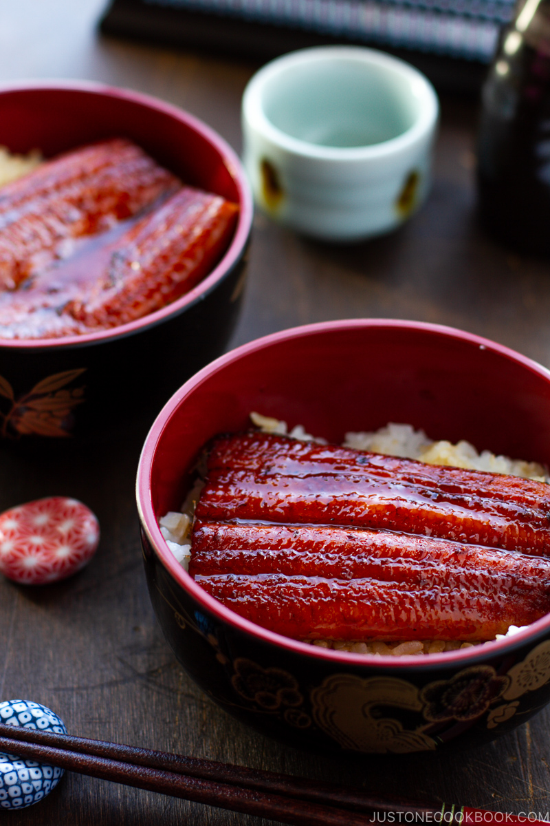
<svg viewBox="0 0 550 826"><path fill-rule="evenodd" d="M289 637L491 639L550 611L549 492L280 436L220 437L190 574Z"/></svg>

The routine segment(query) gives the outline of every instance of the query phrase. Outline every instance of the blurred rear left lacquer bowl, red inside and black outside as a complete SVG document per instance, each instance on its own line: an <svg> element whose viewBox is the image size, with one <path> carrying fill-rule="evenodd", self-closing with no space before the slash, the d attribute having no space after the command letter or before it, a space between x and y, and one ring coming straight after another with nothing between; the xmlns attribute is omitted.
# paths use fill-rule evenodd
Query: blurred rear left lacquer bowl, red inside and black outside
<svg viewBox="0 0 550 826"><path fill-rule="evenodd" d="M48 158L119 135L186 183L237 202L233 241L200 284L142 319L63 339L0 339L0 439L104 429L148 408L153 417L181 382L223 352L233 331L252 205L228 144L187 112L124 89L85 81L0 87L0 145L12 152L38 148Z"/></svg>

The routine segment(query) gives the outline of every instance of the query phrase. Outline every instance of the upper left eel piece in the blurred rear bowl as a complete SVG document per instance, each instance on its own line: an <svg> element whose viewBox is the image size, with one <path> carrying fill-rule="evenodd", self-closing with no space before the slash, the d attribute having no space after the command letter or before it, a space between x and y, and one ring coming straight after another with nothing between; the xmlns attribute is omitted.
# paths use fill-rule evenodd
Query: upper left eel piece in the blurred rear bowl
<svg viewBox="0 0 550 826"><path fill-rule="evenodd" d="M178 179L124 138L59 155L0 190L0 289L63 257L63 243L110 229Z"/></svg>

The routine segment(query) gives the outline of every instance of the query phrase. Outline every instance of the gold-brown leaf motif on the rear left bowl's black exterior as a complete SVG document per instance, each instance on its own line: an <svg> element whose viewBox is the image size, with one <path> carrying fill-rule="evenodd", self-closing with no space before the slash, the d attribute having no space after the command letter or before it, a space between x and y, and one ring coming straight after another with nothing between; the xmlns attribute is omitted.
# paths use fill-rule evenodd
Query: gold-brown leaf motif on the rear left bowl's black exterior
<svg viewBox="0 0 550 826"><path fill-rule="evenodd" d="M73 430L73 409L84 401L84 387L68 388L87 368L63 370L43 378L23 396L16 398L10 382L0 376L0 396L9 406L0 410L0 436L23 435L63 437ZM62 389L63 388L63 389Z"/></svg>

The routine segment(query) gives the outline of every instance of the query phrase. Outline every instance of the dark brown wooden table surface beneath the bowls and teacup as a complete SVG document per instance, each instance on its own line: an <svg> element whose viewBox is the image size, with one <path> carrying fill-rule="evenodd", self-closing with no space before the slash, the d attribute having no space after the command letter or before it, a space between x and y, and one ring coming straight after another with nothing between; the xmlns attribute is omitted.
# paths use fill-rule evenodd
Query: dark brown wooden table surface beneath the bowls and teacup
<svg viewBox="0 0 550 826"><path fill-rule="evenodd" d="M240 150L242 90L256 67L98 40L103 0L0 0L0 82L92 78L153 93ZM472 177L476 104L444 99L429 201L397 234L314 243L256 216L247 297L232 346L311 321L355 316L434 321L485 335L550 367L550 267L478 229ZM143 577L134 474L148 421L55 459L0 448L0 510L65 494L99 516L92 564L59 585L0 582L0 699L37 700L74 733L213 757L381 795L439 797L501 812L550 809L550 713L473 752L412 759L329 758L284 748L219 710L162 638ZM49 798L3 816L19 824L259 824L180 800L66 776Z"/></svg>

